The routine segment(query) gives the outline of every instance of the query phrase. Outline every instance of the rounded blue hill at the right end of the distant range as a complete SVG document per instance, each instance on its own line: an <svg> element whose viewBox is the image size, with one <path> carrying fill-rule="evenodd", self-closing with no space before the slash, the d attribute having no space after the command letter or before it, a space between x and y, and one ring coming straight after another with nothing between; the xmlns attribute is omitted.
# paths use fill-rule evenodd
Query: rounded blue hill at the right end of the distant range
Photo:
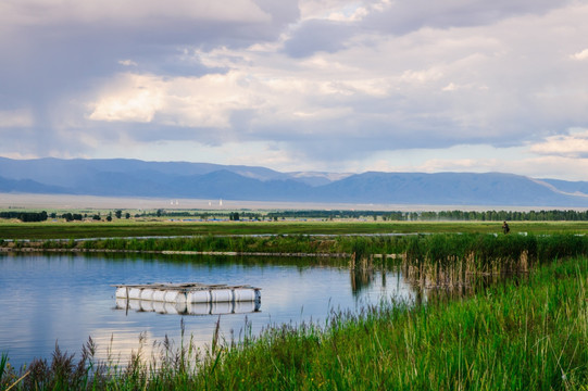
<svg viewBox="0 0 588 391"><path fill-rule="evenodd" d="M554 191L528 177L487 173L365 173L323 187L339 202L441 205L588 205L588 197Z"/></svg>

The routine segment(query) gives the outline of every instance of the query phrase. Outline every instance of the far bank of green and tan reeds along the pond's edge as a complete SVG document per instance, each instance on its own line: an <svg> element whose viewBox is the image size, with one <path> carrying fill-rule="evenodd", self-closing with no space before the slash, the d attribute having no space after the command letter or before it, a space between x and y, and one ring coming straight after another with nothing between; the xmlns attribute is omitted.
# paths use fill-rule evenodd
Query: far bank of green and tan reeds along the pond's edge
<svg viewBox="0 0 588 391"><path fill-rule="evenodd" d="M570 256L588 256L588 237L573 234L406 236L193 236L11 242L11 250L62 250L161 253L233 253L349 258L351 269L396 262L421 288L472 287L481 276L528 273L536 265ZM316 261L320 262L320 261Z"/></svg>

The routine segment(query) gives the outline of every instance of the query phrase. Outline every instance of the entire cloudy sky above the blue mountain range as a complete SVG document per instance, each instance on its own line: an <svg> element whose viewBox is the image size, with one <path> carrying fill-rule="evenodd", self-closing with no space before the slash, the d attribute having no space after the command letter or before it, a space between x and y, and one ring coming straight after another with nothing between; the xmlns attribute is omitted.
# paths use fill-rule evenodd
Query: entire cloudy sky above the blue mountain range
<svg viewBox="0 0 588 391"><path fill-rule="evenodd" d="M588 0L2 0L0 156L588 180Z"/></svg>

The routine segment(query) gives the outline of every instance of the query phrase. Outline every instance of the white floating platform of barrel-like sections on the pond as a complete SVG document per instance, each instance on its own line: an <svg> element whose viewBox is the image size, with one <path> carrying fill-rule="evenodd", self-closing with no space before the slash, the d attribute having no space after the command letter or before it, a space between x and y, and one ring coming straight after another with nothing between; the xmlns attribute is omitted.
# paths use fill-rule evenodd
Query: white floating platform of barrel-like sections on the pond
<svg viewBox="0 0 588 391"><path fill-rule="evenodd" d="M260 302L261 288L187 283L116 285L116 299L171 304Z"/></svg>

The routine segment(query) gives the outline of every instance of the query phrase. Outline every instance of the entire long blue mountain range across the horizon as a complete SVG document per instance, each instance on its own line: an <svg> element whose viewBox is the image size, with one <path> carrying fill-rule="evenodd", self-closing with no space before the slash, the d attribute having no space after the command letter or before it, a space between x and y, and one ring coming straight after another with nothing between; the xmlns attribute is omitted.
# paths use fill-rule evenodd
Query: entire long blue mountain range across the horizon
<svg viewBox="0 0 588 391"><path fill-rule="evenodd" d="M588 182L501 173L279 173L138 160L0 157L0 192L333 203L588 206Z"/></svg>

